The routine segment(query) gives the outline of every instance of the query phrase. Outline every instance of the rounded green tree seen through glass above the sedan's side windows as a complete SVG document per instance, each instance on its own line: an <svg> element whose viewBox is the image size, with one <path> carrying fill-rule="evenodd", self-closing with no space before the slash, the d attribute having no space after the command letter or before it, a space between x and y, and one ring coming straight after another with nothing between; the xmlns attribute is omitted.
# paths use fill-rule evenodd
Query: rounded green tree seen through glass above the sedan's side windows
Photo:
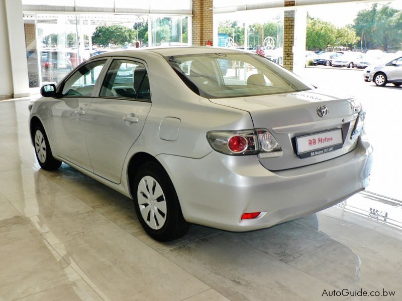
<svg viewBox="0 0 402 301"><path fill-rule="evenodd" d="M92 35L92 42L103 47L109 44L123 46L126 43L133 43L137 38L134 29L121 25L99 26Z"/></svg>

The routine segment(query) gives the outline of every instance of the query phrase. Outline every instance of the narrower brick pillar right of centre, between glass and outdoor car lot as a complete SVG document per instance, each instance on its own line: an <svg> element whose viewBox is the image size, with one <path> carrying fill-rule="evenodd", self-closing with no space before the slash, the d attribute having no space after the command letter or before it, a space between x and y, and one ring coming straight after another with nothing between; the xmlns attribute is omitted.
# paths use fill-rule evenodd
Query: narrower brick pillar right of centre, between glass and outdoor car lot
<svg viewBox="0 0 402 301"><path fill-rule="evenodd" d="M294 1L285 1L285 7L294 6ZM285 11L283 16L283 67L293 71L294 11Z"/></svg>

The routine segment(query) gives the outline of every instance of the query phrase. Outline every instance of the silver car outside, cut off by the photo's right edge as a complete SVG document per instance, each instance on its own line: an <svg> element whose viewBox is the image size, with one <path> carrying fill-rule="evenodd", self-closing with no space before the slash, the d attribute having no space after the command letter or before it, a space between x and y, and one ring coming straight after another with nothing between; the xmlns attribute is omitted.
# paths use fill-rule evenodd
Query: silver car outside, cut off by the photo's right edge
<svg viewBox="0 0 402 301"><path fill-rule="evenodd" d="M397 87L402 85L402 57L370 69L367 81L373 81L377 86L385 86L387 83L392 83Z"/></svg>

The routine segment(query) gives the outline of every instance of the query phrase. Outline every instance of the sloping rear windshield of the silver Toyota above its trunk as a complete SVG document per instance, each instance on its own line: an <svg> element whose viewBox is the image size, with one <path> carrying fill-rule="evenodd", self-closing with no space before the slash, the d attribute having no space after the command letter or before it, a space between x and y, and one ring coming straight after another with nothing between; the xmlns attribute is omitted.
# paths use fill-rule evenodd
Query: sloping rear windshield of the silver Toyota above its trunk
<svg viewBox="0 0 402 301"><path fill-rule="evenodd" d="M184 83L206 98L291 93L313 87L257 54L214 53L165 58Z"/></svg>

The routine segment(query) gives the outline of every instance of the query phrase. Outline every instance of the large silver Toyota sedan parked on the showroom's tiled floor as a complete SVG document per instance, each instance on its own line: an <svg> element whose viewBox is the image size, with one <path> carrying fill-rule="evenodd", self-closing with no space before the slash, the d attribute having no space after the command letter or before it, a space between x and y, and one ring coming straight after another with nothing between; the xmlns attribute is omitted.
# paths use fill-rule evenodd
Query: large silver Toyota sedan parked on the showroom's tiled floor
<svg viewBox="0 0 402 301"><path fill-rule="evenodd" d="M41 93L30 106L40 166L64 162L132 198L160 241L183 235L188 223L270 227L368 185L361 105L256 54L110 52Z"/></svg>

